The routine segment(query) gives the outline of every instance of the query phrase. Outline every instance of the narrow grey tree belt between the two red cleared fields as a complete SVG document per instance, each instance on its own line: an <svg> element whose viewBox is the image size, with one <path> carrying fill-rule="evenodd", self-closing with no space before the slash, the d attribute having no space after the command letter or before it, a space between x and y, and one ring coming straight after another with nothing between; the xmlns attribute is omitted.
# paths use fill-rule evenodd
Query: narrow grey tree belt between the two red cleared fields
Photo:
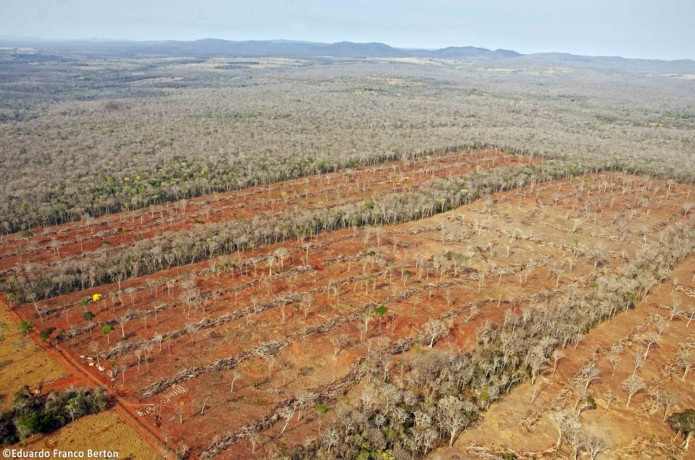
<svg viewBox="0 0 695 460"><path fill-rule="evenodd" d="M4 290L15 303L51 298L319 232L427 218L490 193L601 169L600 165L575 162L507 166L462 177L437 178L414 192L375 196L334 210L286 211L245 221L213 223L125 248L100 249L54 265L30 267L22 275L11 277Z"/></svg>

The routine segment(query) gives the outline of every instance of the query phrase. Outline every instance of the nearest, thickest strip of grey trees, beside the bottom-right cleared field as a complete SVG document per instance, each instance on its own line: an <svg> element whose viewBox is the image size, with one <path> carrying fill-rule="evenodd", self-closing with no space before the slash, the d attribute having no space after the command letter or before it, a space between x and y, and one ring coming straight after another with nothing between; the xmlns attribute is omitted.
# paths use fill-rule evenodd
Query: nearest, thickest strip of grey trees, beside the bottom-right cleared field
<svg viewBox="0 0 695 460"><path fill-rule="evenodd" d="M397 372L384 379L384 361L373 360L367 370L373 388L339 409L331 431L309 447L296 447L290 457L355 459L366 450L405 460L451 445L491 402L550 366L556 348L630 308L693 254L694 226L677 225L616 275L598 278L587 293L570 289L546 308L509 312L502 324L480 329L470 352L432 350L411 362L402 379ZM595 453L605 448L600 439L587 442L583 448L595 447Z"/></svg>

